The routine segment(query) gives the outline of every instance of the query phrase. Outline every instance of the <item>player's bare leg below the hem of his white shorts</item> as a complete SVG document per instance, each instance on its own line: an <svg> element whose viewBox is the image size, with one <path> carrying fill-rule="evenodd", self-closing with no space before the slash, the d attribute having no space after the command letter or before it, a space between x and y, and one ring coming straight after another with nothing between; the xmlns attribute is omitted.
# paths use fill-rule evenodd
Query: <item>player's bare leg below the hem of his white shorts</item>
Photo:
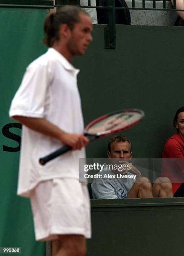
<svg viewBox="0 0 184 256"><path fill-rule="evenodd" d="M84 256L86 239L81 235L60 235L52 241L52 256Z"/></svg>

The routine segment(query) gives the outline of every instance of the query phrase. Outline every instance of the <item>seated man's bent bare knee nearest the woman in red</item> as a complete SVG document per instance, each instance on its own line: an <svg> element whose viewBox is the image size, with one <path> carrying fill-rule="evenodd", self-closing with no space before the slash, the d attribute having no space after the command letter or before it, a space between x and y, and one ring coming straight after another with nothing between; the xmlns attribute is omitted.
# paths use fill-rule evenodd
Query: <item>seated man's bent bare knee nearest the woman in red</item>
<svg viewBox="0 0 184 256"><path fill-rule="evenodd" d="M172 184L170 179L159 177L153 184L153 197L173 197Z"/></svg>

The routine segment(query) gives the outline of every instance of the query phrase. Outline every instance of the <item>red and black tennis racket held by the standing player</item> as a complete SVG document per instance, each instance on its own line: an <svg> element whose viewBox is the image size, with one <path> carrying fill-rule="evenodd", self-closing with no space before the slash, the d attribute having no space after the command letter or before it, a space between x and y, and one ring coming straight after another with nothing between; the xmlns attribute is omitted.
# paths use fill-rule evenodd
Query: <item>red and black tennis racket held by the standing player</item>
<svg viewBox="0 0 184 256"><path fill-rule="evenodd" d="M125 131L138 124L143 116L144 112L139 109L120 110L107 115L102 115L86 126L84 135L89 138L89 141L110 136L119 133L120 131ZM39 162L41 165L44 165L57 156L66 153L71 148L72 147L70 146L61 147L53 153L40 158Z"/></svg>

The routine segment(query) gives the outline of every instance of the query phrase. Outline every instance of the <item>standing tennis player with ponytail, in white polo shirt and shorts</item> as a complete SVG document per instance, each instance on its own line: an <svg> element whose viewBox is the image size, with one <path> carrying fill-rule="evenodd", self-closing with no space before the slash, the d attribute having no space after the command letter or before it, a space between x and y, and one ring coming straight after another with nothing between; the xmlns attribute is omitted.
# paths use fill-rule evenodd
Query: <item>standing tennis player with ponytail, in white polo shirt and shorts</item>
<svg viewBox="0 0 184 256"><path fill-rule="evenodd" d="M37 241L52 240L53 256L83 256L91 236L86 184L79 183L79 158L89 142L71 61L92 41L92 20L74 6L46 17L48 51L26 69L10 107L23 124L18 195L30 197ZM38 159L69 145L72 151L41 166Z"/></svg>

